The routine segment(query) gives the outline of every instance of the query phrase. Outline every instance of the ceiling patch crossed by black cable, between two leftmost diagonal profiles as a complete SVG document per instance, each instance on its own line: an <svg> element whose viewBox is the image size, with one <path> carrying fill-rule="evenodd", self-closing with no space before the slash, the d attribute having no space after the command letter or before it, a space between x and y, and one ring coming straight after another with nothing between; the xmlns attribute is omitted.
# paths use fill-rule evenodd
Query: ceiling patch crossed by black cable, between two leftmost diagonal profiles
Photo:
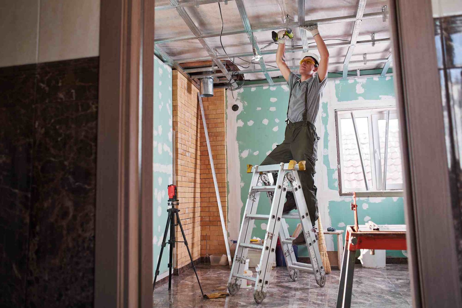
<svg viewBox="0 0 462 308"><path fill-rule="evenodd" d="M235 1L228 1L225 5L220 3L223 15L223 30L244 30L242 19L239 15ZM204 4L199 7L185 7L189 17L201 33L216 32L221 30L221 18L217 3Z"/></svg>

